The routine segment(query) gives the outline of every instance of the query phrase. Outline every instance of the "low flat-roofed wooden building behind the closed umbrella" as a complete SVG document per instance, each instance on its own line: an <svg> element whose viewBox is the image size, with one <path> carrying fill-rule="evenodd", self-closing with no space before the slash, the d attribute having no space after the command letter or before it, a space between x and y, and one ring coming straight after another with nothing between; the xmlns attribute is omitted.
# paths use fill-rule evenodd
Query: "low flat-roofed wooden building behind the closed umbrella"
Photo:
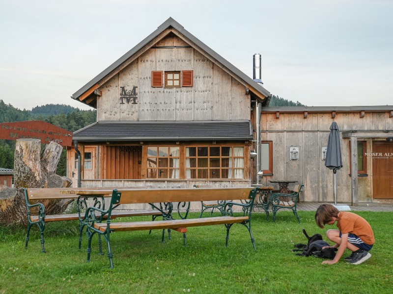
<svg viewBox="0 0 393 294"><path fill-rule="evenodd" d="M263 183L298 181L305 185L301 201L333 202L333 172L324 164L333 121L343 163L336 175L337 202L393 203L392 105L262 107Z"/></svg>

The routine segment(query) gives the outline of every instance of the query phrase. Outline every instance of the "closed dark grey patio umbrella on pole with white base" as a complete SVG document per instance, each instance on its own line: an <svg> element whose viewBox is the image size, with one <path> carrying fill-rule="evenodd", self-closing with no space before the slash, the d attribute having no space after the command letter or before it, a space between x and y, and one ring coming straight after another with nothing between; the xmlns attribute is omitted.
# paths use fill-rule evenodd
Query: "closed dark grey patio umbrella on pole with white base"
<svg viewBox="0 0 393 294"><path fill-rule="evenodd" d="M340 145L340 132L338 130L338 125L333 122L330 126L330 134L328 140L328 148L326 150L325 166L333 170L334 175L334 198L335 206L337 207L337 196L336 196L336 172L342 168L341 160L341 145ZM340 205L339 210L350 210L348 205L343 207Z"/></svg>

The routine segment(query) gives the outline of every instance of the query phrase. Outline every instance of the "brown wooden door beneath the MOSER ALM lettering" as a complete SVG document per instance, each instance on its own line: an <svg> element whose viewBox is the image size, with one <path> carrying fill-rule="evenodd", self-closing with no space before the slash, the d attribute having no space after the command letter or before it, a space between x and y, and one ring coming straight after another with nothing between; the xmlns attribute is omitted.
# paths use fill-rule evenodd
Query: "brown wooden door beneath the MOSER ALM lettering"
<svg viewBox="0 0 393 294"><path fill-rule="evenodd" d="M393 143L372 142L372 195L374 199L393 198Z"/></svg>

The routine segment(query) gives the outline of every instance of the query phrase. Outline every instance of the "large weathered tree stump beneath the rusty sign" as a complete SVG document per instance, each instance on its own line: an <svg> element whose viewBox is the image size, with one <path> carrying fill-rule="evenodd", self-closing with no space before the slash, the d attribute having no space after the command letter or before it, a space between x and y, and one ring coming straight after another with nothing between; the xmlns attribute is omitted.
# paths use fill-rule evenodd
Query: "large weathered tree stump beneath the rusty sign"
<svg viewBox="0 0 393 294"><path fill-rule="evenodd" d="M27 223L26 200L19 188L67 188L71 179L57 175L61 145L50 142L41 153L38 139L16 140L13 189L0 192L0 225ZM72 199L40 201L47 215L59 214L66 210Z"/></svg>

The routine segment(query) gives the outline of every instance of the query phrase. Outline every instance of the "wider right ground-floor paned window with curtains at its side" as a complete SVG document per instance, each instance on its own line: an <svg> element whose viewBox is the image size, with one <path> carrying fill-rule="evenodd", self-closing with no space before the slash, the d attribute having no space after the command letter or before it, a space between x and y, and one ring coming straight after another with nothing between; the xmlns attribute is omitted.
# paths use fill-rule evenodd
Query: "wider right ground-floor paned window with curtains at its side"
<svg viewBox="0 0 393 294"><path fill-rule="evenodd" d="M186 178L243 179L244 147L186 147Z"/></svg>

